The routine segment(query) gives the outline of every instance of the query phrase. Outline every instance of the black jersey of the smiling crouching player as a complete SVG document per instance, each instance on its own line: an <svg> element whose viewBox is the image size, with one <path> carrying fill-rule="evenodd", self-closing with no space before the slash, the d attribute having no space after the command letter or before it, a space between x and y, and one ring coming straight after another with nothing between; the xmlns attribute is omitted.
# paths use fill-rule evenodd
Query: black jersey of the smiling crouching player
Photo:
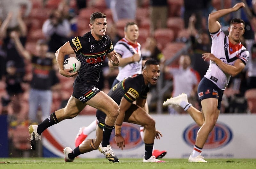
<svg viewBox="0 0 256 169"><path fill-rule="evenodd" d="M146 99L148 92L148 90L145 92L146 88L149 90L149 84L145 86L143 75L135 74L125 78L112 87L108 92L108 96L110 96L118 105L120 104L122 97L132 103L138 97Z"/></svg>

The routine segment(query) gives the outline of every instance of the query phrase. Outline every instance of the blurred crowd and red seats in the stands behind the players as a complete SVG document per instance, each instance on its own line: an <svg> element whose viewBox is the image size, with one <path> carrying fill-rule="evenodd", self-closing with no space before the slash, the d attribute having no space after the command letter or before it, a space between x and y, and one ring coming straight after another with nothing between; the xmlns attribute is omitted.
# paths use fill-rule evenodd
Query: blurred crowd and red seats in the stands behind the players
<svg viewBox="0 0 256 169"><path fill-rule="evenodd" d="M187 92L195 107L200 108L196 87L209 66L209 61L203 61L201 56L211 51L208 15L215 10L233 7L237 2L239 1L1 0L0 114L8 114L11 126L9 137L17 142L14 144L17 148L29 149L27 125L38 123L53 110L66 105L73 91L74 78L60 75L55 51L66 41L90 31L90 15L94 11L107 15L106 34L112 39L113 45L124 37L127 22L137 23L142 57L158 60L163 76L159 83L162 86L169 84L162 100L176 96L175 91L182 90ZM221 29L227 31L232 18L244 19L246 26L243 45L251 55L246 69L231 78L224 92L221 113L256 113L256 2L242 2L246 4L246 8L240 13L221 18ZM186 50L179 54L184 48ZM99 89L108 92L117 74L118 69L108 68L106 60ZM157 92L156 87L150 93L154 92ZM156 112L157 99L159 98L155 94L148 95L150 113ZM163 110L170 114L185 113L173 107L163 107ZM86 106L80 114L95 112L94 108ZM26 129L24 135L22 126ZM20 135L12 135L12 130L20 130Z"/></svg>

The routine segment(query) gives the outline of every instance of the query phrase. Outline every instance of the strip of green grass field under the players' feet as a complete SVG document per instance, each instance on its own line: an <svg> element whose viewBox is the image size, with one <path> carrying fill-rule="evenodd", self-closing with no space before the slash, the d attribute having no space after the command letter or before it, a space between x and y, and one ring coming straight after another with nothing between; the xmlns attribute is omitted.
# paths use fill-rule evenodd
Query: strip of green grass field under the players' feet
<svg viewBox="0 0 256 169"><path fill-rule="evenodd" d="M206 159L209 163L188 163L187 159L163 158L166 163L143 163L142 159L120 158L108 162L106 158L77 158L65 162L62 158L0 158L0 169L256 169L256 159Z"/></svg>

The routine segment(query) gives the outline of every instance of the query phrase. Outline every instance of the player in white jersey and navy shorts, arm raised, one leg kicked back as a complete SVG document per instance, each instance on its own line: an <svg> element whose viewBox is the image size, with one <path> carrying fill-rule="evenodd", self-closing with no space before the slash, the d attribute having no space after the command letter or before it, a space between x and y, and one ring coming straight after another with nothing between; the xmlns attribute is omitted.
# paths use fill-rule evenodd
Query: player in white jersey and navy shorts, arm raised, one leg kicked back
<svg viewBox="0 0 256 169"><path fill-rule="evenodd" d="M207 162L201 156L201 151L219 117L223 92L230 77L240 73L248 61L249 51L240 42L244 34L244 21L239 18L232 19L228 27L228 36L222 32L218 22L220 17L243 7L244 3L237 3L232 8L209 15L208 27L212 37L212 48L211 53L204 53L202 58L210 59L210 65L197 88L202 112L188 103L187 95L184 93L164 102L164 105L180 105L200 126L194 150L188 158L189 162Z"/></svg>

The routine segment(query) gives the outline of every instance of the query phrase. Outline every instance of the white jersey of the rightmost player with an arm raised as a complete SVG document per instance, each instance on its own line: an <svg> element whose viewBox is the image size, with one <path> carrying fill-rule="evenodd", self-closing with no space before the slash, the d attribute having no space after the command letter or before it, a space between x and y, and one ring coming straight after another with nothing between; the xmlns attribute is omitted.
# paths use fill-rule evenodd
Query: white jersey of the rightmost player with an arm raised
<svg viewBox="0 0 256 169"><path fill-rule="evenodd" d="M241 43L233 45L221 29L217 33L211 34L211 37L211 53L215 57L229 65L234 65L236 59L240 59L246 64L249 58L249 51ZM210 61L204 77L215 83L221 90L225 90L231 76L224 73L215 62Z"/></svg>

